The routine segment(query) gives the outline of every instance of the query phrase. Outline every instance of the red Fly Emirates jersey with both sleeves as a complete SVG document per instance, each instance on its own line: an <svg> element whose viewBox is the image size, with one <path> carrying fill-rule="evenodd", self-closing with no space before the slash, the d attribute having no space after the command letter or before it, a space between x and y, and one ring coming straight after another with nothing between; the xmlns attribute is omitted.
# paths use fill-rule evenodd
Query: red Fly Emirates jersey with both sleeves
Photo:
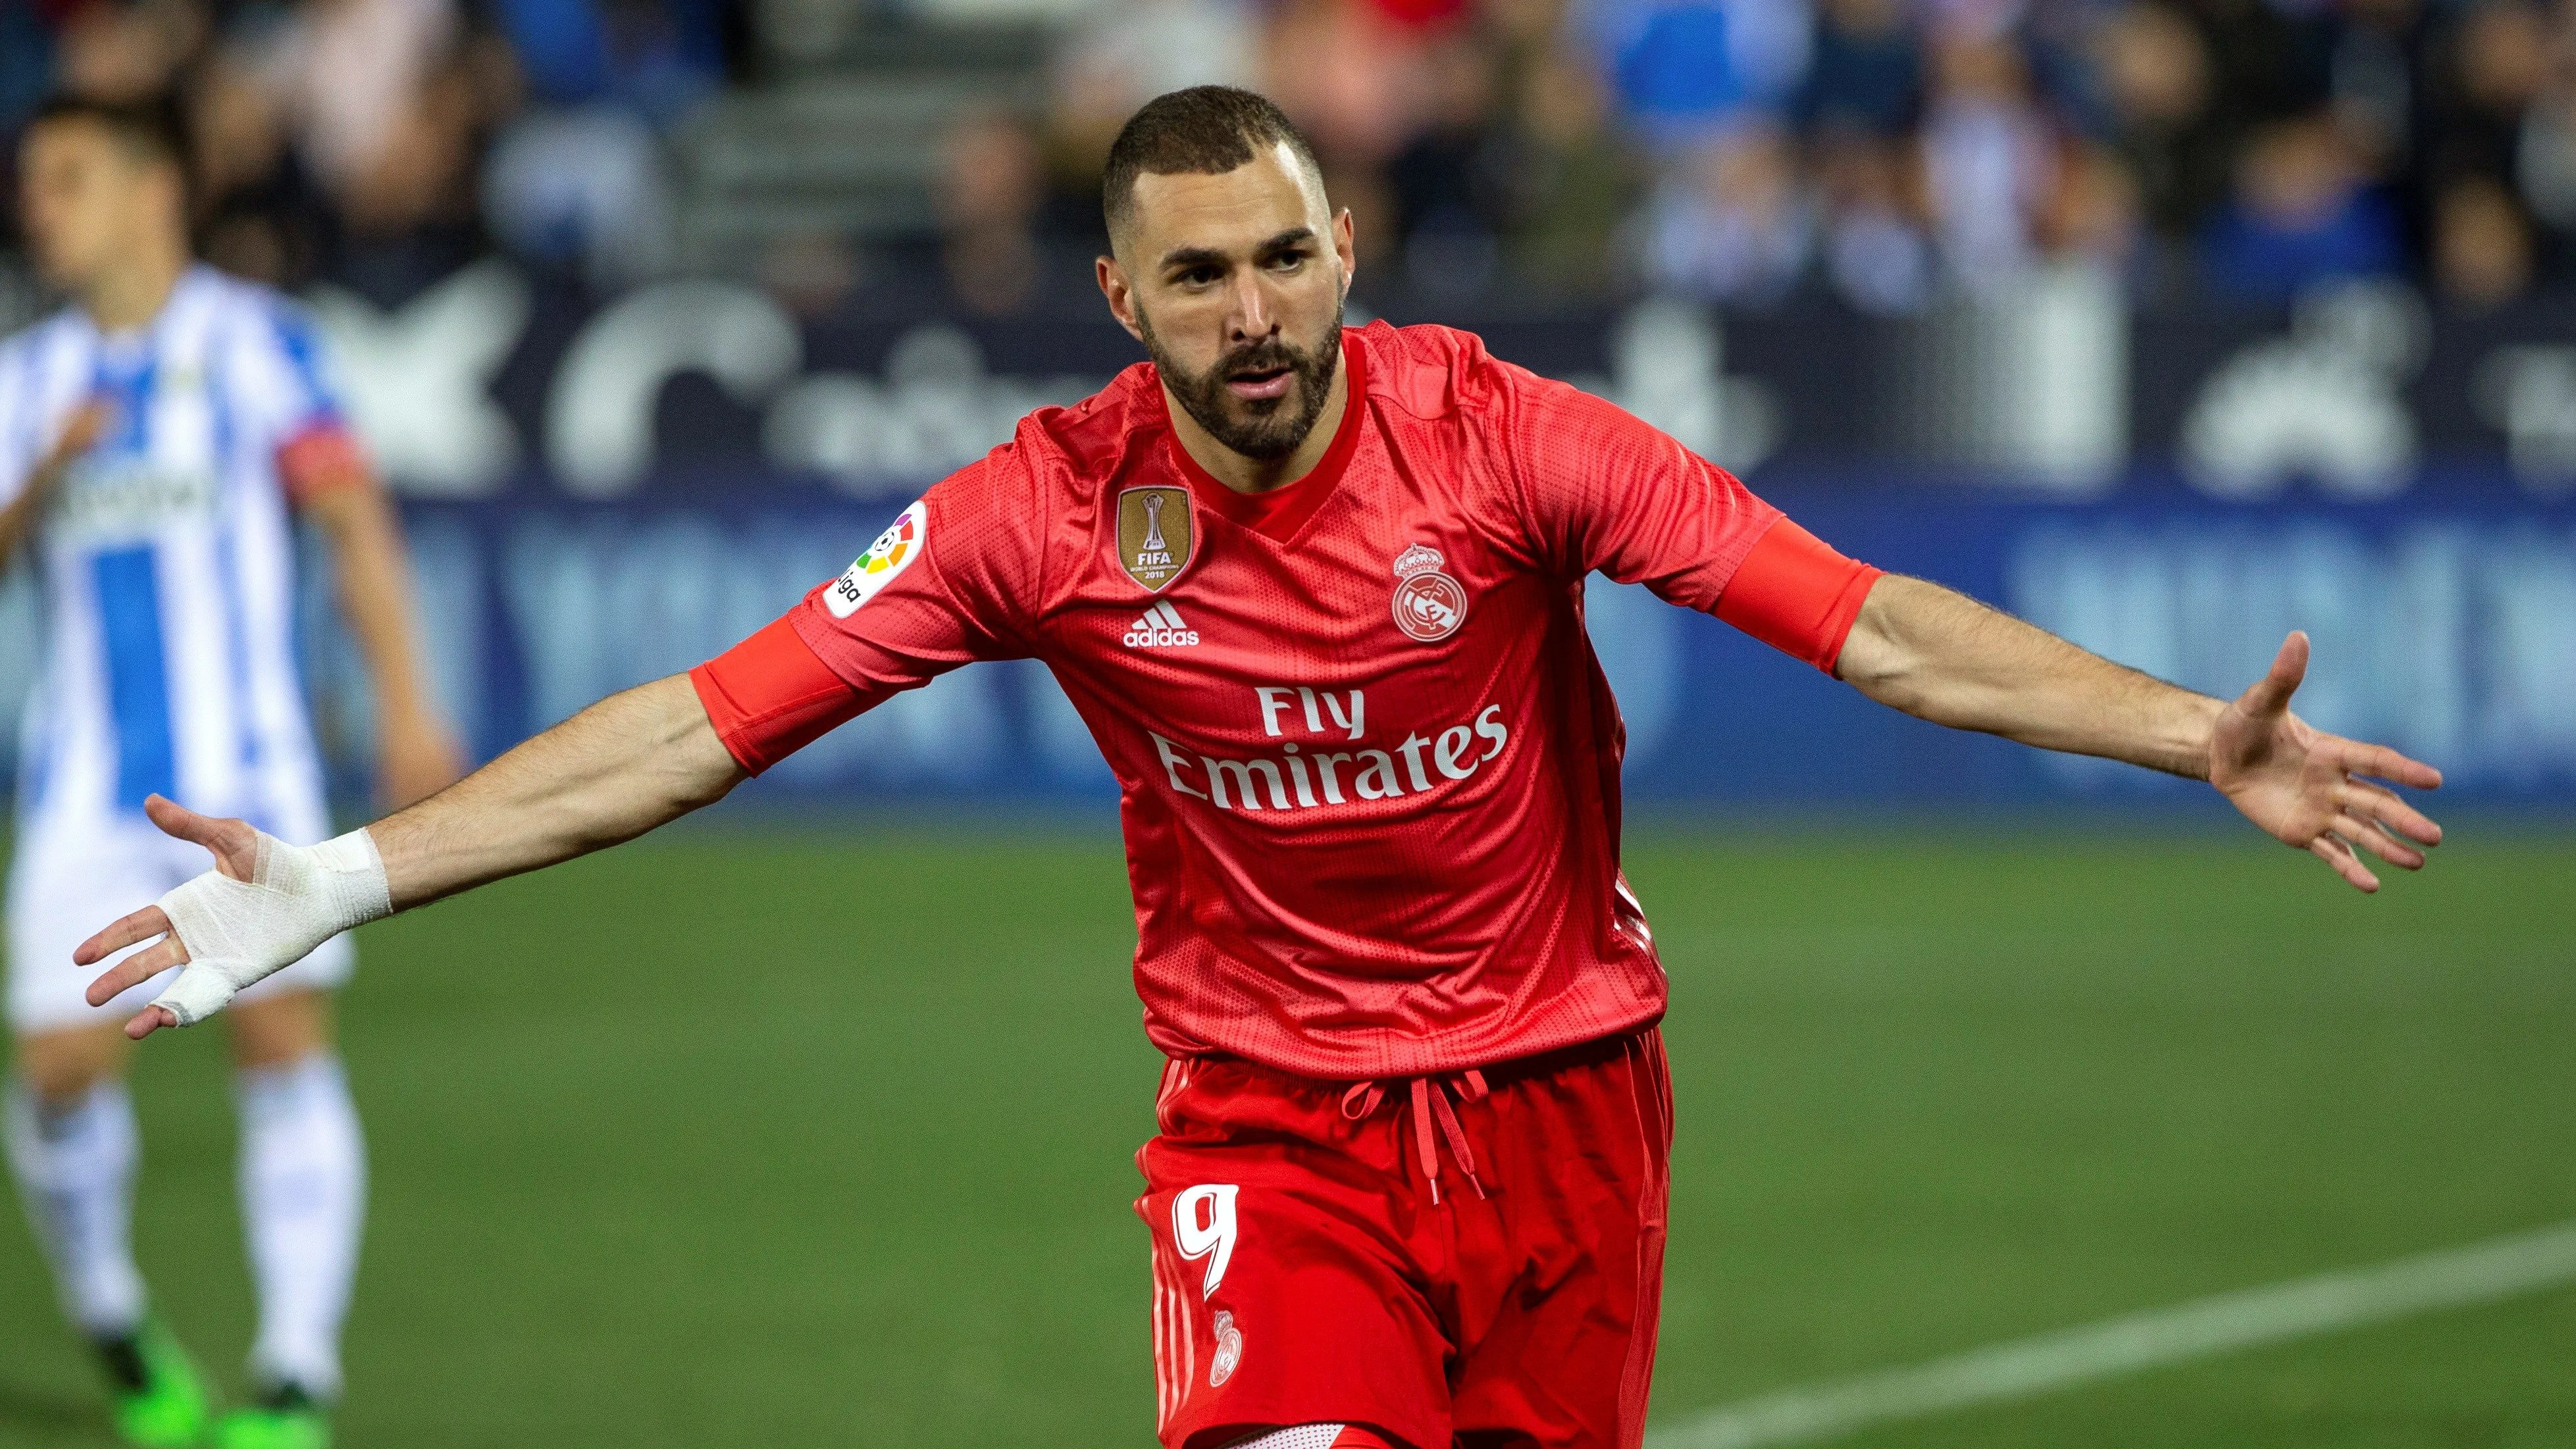
<svg viewBox="0 0 2576 1449"><path fill-rule="evenodd" d="M958 664L1046 661L1118 775L1167 1055L1342 1081L1646 1027L1584 577L1829 669L1875 571L1473 335L1378 322L1342 355L1324 461L1260 497L1180 448L1146 363L1033 412L696 669L708 715L762 770Z"/></svg>

